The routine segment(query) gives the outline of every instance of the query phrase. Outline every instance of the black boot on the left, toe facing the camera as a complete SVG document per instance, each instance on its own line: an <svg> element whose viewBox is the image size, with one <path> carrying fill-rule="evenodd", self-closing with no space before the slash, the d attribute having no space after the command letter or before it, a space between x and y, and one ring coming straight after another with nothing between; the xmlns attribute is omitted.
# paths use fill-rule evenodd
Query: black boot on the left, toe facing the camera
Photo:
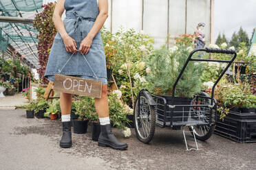
<svg viewBox="0 0 256 170"><path fill-rule="evenodd" d="M60 146L64 148L72 147L72 137L71 137L71 121L64 121L63 135L61 137Z"/></svg>

